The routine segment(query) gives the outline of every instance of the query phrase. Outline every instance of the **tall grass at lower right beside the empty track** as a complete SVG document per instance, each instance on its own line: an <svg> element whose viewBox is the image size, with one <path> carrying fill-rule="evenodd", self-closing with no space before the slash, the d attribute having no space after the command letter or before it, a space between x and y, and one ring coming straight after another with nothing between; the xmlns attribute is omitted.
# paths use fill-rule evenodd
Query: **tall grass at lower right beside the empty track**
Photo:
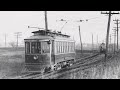
<svg viewBox="0 0 120 90"><path fill-rule="evenodd" d="M120 79L120 56L107 61L106 65L100 63L89 69L61 76L59 79Z"/></svg>

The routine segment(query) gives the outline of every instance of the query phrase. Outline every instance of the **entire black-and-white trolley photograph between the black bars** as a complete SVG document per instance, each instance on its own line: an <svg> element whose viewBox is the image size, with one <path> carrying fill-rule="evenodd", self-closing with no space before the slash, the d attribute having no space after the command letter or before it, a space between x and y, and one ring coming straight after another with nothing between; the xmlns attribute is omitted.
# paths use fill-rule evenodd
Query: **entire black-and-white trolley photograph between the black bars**
<svg viewBox="0 0 120 90"><path fill-rule="evenodd" d="M0 79L120 79L120 11L0 11Z"/></svg>

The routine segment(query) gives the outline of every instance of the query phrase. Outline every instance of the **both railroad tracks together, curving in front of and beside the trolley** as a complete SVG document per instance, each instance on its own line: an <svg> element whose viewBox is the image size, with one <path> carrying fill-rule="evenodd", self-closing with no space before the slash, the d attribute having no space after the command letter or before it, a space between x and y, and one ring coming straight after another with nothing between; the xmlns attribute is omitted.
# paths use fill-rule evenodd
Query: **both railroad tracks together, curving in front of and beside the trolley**
<svg viewBox="0 0 120 90"><path fill-rule="evenodd" d="M86 58L77 60L73 66L59 70L59 71L49 72L49 73L44 73L44 74L34 72L34 73L25 74L22 76L17 76L12 79L52 79L52 78L56 78L61 75L72 73L73 71L89 68L91 65L95 65L96 63L99 63L101 61L101 59L97 59L98 57L101 57L102 59L104 55L94 54L92 56L88 56ZM113 55L109 55L108 59L112 57Z"/></svg>

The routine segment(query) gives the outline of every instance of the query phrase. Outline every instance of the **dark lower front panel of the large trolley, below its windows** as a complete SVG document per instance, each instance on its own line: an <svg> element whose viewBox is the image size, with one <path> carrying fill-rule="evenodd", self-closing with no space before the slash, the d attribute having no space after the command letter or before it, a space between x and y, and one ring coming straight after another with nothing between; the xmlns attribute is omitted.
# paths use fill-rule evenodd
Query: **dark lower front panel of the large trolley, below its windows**
<svg viewBox="0 0 120 90"><path fill-rule="evenodd" d="M43 68L50 65L49 56L47 55L38 55L38 59L34 59L35 55L26 55L25 63L26 68L29 71L40 71Z"/></svg>

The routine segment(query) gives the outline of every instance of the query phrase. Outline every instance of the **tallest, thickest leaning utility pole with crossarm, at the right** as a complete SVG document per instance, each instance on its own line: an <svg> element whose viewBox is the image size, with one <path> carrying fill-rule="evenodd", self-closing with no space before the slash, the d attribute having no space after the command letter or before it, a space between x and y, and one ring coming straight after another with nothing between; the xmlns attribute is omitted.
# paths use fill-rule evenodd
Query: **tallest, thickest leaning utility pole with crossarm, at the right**
<svg viewBox="0 0 120 90"><path fill-rule="evenodd" d="M108 26L107 26L107 35L106 35L106 53L105 53L105 60L107 59L107 54L108 54L108 44L109 44L109 32L110 32L110 22L111 22L111 15L113 14L119 14L119 13L115 13L115 12L101 12L101 14L108 14Z"/></svg>

